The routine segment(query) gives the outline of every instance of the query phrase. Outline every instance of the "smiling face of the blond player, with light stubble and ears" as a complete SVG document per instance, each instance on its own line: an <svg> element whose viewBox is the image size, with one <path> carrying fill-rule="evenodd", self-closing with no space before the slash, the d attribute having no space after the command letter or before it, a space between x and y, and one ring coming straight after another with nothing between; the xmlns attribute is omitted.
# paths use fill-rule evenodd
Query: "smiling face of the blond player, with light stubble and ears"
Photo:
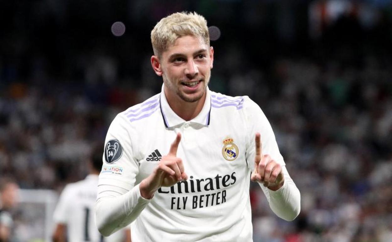
<svg viewBox="0 0 392 242"><path fill-rule="evenodd" d="M151 62L157 75L162 75L168 100L180 98L196 102L205 94L210 80L214 50L201 37L177 38L158 59Z"/></svg>

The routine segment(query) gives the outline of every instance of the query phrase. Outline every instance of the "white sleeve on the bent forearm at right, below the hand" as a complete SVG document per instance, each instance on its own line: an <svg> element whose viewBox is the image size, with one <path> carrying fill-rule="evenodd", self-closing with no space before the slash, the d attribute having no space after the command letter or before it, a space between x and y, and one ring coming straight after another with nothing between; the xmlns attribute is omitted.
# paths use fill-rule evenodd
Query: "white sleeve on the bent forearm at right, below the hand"
<svg viewBox="0 0 392 242"><path fill-rule="evenodd" d="M301 210L301 195L298 188L291 179L286 167L283 168L283 175L285 181L283 186L277 191L267 190L267 197L271 210L279 217L287 221L292 221L296 218ZM260 184L262 187L263 185Z"/></svg>

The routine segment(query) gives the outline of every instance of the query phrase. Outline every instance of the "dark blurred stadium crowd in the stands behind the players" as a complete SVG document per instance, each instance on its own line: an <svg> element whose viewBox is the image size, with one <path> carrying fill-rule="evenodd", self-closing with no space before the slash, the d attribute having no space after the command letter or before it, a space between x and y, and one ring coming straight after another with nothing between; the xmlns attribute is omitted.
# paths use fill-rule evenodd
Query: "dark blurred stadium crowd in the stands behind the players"
<svg viewBox="0 0 392 242"><path fill-rule="evenodd" d="M301 214L289 223L252 185L254 241L392 241L388 1L95 2L0 10L11 19L0 27L0 176L58 191L84 178L114 116L160 91L149 64L152 26L195 10L222 33L211 43L210 89L260 105L301 191ZM336 2L343 10L333 21L317 14ZM316 32L309 16L320 22ZM121 37L110 33L118 20Z"/></svg>

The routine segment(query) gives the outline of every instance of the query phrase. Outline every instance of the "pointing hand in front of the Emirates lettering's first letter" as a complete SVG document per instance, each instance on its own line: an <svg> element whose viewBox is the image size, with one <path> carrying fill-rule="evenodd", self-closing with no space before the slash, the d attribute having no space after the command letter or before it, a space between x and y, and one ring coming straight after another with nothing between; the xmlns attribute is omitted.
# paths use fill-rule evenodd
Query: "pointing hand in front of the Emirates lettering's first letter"
<svg viewBox="0 0 392 242"><path fill-rule="evenodd" d="M177 157L178 144L181 134L177 133L176 140L171 144L169 153L162 156L158 166L147 178L140 182L140 194L150 199L160 187L170 187L181 180L187 180L181 158Z"/></svg>

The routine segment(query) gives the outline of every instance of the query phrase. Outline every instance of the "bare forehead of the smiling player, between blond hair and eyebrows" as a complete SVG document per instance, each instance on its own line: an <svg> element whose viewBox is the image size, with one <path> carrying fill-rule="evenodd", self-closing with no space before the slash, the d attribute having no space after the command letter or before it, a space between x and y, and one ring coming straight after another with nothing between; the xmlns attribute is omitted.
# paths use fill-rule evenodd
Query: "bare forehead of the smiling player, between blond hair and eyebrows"
<svg viewBox="0 0 392 242"><path fill-rule="evenodd" d="M208 45L203 41L203 38L192 35L181 36L176 41L167 47L163 55L171 55L173 53L188 54L200 49L208 49Z"/></svg>

